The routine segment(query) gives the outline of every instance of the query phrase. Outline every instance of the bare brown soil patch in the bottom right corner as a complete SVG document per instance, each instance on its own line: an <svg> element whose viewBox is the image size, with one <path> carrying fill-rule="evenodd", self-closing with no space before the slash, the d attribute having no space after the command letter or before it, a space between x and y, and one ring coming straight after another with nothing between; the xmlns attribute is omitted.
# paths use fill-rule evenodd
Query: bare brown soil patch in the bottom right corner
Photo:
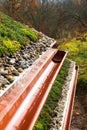
<svg viewBox="0 0 87 130"><path fill-rule="evenodd" d="M75 96L70 130L87 130L87 95Z"/></svg>

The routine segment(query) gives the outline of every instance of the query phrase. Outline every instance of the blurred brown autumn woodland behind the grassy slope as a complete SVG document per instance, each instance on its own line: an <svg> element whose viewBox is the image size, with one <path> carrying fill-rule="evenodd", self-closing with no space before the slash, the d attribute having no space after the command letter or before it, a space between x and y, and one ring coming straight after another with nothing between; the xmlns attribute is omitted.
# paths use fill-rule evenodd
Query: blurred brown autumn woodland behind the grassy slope
<svg viewBox="0 0 87 130"><path fill-rule="evenodd" d="M87 31L87 0L0 0L0 10L57 39Z"/></svg>

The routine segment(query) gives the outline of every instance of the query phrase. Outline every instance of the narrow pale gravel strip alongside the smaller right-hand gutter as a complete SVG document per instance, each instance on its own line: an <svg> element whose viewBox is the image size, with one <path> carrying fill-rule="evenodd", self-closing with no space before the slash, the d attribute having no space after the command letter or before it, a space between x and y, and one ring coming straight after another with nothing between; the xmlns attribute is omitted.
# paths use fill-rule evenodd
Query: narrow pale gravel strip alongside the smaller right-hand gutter
<svg viewBox="0 0 87 130"><path fill-rule="evenodd" d="M68 76L66 77L66 81L62 87L62 94L58 101L57 107L54 110L54 117L52 119L52 123L50 124L50 130L61 130L61 124L63 120L64 108L67 100L68 91L70 88L70 81L73 76L73 71L75 67L75 62L70 61L70 68L68 71Z"/></svg>

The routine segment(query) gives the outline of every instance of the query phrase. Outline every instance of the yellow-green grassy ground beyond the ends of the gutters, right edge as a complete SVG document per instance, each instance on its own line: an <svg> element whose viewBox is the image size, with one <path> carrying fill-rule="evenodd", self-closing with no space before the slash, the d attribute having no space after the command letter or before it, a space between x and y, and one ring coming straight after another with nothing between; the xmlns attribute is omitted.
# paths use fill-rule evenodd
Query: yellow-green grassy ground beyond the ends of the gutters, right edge
<svg viewBox="0 0 87 130"><path fill-rule="evenodd" d="M87 34L85 34L85 38L87 38ZM59 49L68 50L68 58L76 61L77 65L79 65L77 92L87 92L87 41L73 39L66 44L60 45Z"/></svg>

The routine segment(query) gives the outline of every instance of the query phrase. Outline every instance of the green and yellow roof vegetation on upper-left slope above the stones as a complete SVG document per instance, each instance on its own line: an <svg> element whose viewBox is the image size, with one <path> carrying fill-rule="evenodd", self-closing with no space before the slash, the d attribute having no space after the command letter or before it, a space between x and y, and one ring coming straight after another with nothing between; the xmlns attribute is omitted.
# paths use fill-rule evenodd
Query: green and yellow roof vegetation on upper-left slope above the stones
<svg viewBox="0 0 87 130"><path fill-rule="evenodd" d="M0 55L12 55L30 40L36 42L38 33L0 12Z"/></svg>

